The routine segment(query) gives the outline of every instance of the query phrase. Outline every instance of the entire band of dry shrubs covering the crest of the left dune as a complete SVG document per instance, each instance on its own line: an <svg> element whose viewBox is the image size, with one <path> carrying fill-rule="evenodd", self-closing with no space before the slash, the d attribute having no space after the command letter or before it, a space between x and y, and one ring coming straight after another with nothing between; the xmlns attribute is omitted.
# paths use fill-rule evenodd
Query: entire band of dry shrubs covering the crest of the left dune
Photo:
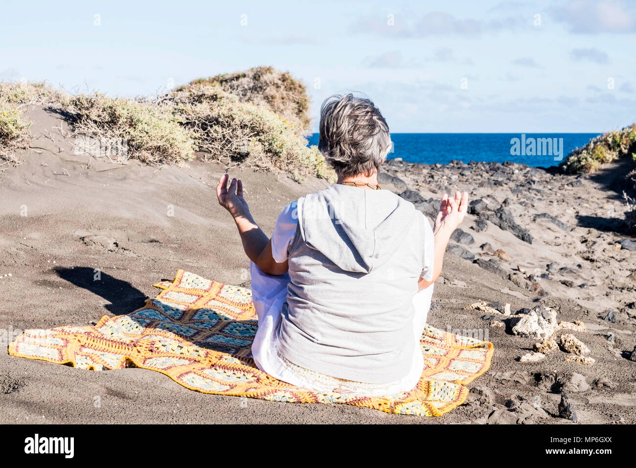
<svg viewBox="0 0 636 468"><path fill-rule="evenodd" d="M12 136L14 142L27 135L16 105L50 104L81 137L76 150L114 162L178 164L200 150L209 154L205 160L286 171L297 181L335 180L317 147L307 148L303 136L310 123L305 85L272 67L195 80L153 101L100 93L68 96L45 83L0 83L0 103L6 107L3 134L22 135Z"/></svg>

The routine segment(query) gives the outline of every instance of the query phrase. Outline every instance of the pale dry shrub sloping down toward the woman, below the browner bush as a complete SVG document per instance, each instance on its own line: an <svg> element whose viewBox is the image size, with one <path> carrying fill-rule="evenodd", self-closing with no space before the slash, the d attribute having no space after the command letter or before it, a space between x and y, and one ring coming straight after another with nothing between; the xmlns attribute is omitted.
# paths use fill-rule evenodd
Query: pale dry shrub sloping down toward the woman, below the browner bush
<svg viewBox="0 0 636 468"><path fill-rule="evenodd" d="M193 132L198 150L209 153L210 159L288 171L298 181L305 176L333 176L317 147L307 148L307 140L290 122L218 85L181 88L162 105Z"/></svg>

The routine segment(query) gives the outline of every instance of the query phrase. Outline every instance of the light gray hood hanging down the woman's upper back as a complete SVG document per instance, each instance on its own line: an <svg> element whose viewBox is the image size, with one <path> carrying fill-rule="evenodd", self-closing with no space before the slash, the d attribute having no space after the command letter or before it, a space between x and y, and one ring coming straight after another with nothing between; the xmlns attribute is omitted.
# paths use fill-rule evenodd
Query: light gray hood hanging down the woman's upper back
<svg viewBox="0 0 636 468"><path fill-rule="evenodd" d="M334 184L298 200L303 239L343 271L369 273L401 246L417 210L389 190Z"/></svg>

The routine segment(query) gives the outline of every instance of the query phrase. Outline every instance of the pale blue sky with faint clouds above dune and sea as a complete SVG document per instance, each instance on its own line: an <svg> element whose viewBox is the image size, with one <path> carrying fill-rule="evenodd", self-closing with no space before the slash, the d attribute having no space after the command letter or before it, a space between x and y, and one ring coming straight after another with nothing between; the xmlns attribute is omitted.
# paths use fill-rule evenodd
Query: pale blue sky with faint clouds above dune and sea
<svg viewBox="0 0 636 468"><path fill-rule="evenodd" d="M636 121L636 1L0 6L4 80L140 96L272 65L305 82L314 117L330 94L360 91L392 132L600 132Z"/></svg>

